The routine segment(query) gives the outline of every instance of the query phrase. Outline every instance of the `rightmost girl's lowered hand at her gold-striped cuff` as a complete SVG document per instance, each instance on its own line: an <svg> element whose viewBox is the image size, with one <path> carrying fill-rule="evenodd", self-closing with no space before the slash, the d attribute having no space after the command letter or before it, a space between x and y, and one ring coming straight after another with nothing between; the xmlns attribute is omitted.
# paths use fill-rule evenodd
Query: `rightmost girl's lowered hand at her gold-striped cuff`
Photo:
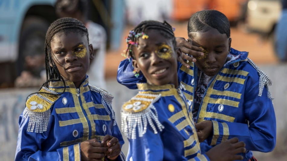
<svg viewBox="0 0 287 161"><path fill-rule="evenodd" d="M197 136L199 142L203 142L212 133L213 126L212 121L205 120L200 123L195 124L197 130Z"/></svg>

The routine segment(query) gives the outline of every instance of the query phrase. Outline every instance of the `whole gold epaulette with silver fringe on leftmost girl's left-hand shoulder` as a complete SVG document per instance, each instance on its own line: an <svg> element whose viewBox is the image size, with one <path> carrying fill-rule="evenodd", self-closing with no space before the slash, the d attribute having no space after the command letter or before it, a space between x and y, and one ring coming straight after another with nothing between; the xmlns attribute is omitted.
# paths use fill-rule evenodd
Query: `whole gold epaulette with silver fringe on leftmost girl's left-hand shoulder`
<svg viewBox="0 0 287 161"><path fill-rule="evenodd" d="M23 117L29 116L27 132L43 133L47 131L51 114L50 108L60 98L59 95L50 95L49 93L57 93L46 87L43 87L39 92L45 93L31 95L26 101Z"/></svg>

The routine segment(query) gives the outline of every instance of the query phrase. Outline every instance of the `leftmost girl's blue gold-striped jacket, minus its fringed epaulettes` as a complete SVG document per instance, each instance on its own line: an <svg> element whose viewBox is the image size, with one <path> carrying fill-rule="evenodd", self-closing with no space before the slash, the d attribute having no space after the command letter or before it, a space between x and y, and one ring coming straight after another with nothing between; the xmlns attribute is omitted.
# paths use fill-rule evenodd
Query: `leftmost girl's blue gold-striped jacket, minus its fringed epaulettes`
<svg viewBox="0 0 287 161"><path fill-rule="evenodd" d="M79 160L79 143L91 138L97 138L100 141L107 134L117 137L122 146L124 140L118 125L114 125L112 111L110 108L107 108L109 110L107 111L103 106L108 105L108 102L102 102L102 95L90 88L88 79L85 79L79 88L78 97L73 82L66 81L66 92L60 95L60 98L50 107L47 131L43 133L28 132L30 117L24 117L22 113L19 117L15 160L50 161L65 160L65 157L70 161ZM53 82L53 85L50 84L50 89L60 93L63 91L63 83ZM63 101L64 98L67 100L66 104ZM75 133L75 130L78 133ZM117 159L122 160L121 156Z"/></svg>

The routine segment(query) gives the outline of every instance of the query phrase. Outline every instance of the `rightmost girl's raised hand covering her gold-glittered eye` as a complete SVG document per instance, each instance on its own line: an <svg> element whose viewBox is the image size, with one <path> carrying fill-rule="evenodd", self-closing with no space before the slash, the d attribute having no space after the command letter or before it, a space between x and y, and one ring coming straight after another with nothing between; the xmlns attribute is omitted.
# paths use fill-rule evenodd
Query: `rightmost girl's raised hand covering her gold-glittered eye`
<svg viewBox="0 0 287 161"><path fill-rule="evenodd" d="M182 63L182 65L188 68L189 65L184 61L184 59L196 62L196 59L191 56L203 56L202 48L192 45L191 43L186 41L183 37L176 37L176 46L179 47L180 50L182 51L182 59L180 60L180 63ZM189 54L190 56L186 54Z"/></svg>

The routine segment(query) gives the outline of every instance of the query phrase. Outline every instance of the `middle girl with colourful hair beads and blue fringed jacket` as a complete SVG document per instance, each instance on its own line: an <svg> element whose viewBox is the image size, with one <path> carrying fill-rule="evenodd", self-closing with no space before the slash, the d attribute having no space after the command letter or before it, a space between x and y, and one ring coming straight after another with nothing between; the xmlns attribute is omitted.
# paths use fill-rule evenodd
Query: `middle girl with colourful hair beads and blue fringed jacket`
<svg viewBox="0 0 287 161"><path fill-rule="evenodd" d="M243 159L244 143L228 140L205 154L201 150L189 105L179 88L176 47L172 27L143 21L127 37L134 73L147 83L137 83L139 93L124 103L121 117L129 140L127 160L234 160ZM137 74L136 74L137 75Z"/></svg>

